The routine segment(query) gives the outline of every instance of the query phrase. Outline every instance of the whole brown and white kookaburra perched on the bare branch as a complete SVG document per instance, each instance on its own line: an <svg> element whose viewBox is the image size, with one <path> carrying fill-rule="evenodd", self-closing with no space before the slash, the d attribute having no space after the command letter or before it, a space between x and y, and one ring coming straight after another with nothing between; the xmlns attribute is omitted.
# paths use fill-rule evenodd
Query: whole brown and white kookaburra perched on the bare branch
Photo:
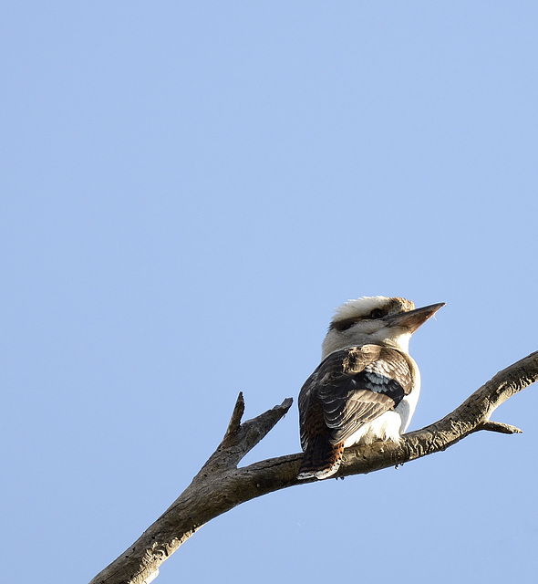
<svg viewBox="0 0 538 584"><path fill-rule="evenodd" d="M398 442L415 412L420 373L411 335L444 302L424 308L405 298L350 300L336 308L322 361L299 393L299 479L335 474L347 446Z"/></svg>

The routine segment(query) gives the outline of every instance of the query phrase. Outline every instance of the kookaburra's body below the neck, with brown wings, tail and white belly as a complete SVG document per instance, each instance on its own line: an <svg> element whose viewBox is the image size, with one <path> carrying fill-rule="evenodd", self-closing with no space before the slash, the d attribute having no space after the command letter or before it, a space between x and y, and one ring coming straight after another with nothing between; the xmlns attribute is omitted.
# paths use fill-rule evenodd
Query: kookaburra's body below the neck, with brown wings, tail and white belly
<svg viewBox="0 0 538 584"><path fill-rule="evenodd" d="M377 344L336 350L299 393L299 478L336 473L344 447L376 438L398 440L409 424L419 371L409 354ZM412 406L412 407L411 407ZM405 426L405 427L404 427Z"/></svg>

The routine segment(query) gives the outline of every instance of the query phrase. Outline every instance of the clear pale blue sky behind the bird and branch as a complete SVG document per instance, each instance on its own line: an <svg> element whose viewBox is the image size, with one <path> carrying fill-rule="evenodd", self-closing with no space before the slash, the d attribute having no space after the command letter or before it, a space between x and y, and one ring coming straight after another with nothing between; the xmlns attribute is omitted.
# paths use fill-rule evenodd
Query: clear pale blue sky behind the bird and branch
<svg viewBox="0 0 538 584"><path fill-rule="evenodd" d="M447 303L434 422L535 349L538 5L0 8L0 549L87 582L246 417L296 397L348 298ZM267 495L160 584L535 581L538 391L398 470ZM246 463L298 452L296 405Z"/></svg>

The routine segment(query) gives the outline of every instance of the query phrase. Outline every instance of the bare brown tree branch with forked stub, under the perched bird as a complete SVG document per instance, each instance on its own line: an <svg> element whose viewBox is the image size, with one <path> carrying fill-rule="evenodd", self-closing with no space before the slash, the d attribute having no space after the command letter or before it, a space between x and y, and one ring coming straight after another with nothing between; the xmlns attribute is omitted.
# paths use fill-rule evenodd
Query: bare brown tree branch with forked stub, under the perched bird
<svg viewBox="0 0 538 584"><path fill-rule="evenodd" d="M460 407L439 422L407 433L397 443L376 442L347 449L336 477L367 474L446 450L480 430L520 433L491 413L518 391L538 380L538 351L500 371ZM290 454L237 468L274 424L291 407L291 398L241 423L243 393L239 394L222 443L183 493L119 558L90 584L147 584L159 574L163 561L213 517L260 495L311 481L296 478L302 454Z"/></svg>

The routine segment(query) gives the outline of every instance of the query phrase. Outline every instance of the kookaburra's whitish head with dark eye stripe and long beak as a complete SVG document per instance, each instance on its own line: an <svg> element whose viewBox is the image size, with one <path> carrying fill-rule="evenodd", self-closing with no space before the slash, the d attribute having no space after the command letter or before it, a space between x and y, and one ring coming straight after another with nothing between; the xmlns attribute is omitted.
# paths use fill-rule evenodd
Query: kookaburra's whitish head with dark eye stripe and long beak
<svg viewBox="0 0 538 584"><path fill-rule="evenodd" d="M384 296L349 300L336 308L323 341L322 358L335 350L372 343L409 353L409 339L445 303L424 308L405 298Z"/></svg>

